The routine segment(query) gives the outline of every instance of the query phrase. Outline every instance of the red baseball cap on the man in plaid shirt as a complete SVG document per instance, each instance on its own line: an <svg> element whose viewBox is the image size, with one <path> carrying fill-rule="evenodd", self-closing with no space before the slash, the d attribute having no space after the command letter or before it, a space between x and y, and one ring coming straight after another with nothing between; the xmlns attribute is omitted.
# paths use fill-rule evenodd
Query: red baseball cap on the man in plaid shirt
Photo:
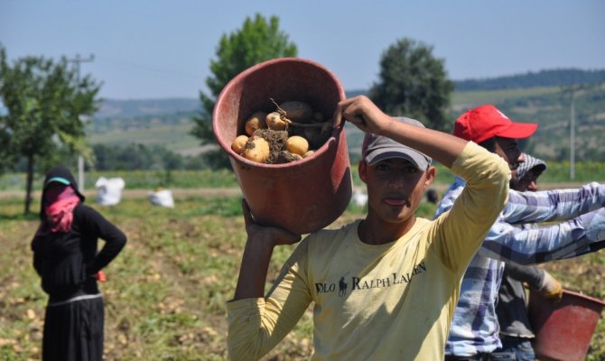
<svg viewBox="0 0 605 361"><path fill-rule="evenodd" d="M485 105L470 109L454 123L454 135L467 141L481 143L501 136L523 139L535 133L534 123L513 123L496 106Z"/></svg>

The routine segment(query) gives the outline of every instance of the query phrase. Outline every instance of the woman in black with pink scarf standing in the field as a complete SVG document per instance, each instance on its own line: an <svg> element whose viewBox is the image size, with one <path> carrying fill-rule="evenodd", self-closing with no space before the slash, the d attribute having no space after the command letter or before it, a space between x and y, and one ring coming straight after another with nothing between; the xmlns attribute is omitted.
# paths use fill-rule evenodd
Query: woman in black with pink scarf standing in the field
<svg viewBox="0 0 605 361"><path fill-rule="evenodd" d="M97 282L126 245L126 236L84 199L67 168L46 174L32 251L33 267L49 295L42 338L47 361L103 359L104 305ZM105 240L100 252L98 238Z"/></svg>

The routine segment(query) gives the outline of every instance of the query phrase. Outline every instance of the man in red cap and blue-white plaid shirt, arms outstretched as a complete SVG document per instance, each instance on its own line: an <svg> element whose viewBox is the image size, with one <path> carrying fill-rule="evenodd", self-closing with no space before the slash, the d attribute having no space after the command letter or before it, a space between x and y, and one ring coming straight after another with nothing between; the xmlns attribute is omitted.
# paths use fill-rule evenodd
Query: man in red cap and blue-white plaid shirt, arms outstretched
<svg viewBox="0 0 605 361"><path fill-rule="evenodd" d="M508 162L512 173L507 204L489 230L479 252L470 261L461 284L446 360L515 359L513 354L492 357L502 347L496 316L504 262L541 264L594 252L605 246L605 185L593 182L576 190L518 192L517 167L525 161L517 139L535 133L537 125L514 123L496 106L484 105L459 116L454 135L483 146ZM456 177L442 197L435 218L452 209L466 189ZM544 227L523 227L545 221ZM506 358L508 357L508 358Z"/></svg>

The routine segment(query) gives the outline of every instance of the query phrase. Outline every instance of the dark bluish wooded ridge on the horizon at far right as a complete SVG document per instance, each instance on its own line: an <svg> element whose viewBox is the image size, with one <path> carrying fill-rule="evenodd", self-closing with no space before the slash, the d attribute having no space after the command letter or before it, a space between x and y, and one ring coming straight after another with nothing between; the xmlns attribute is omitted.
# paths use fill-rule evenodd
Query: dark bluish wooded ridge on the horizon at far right
<svg viewBox="0 0 605 361"><path fill-rule="evenodd" d="M566 87L574 84L595 84L605 82L605 69L554 69L527 72L489 79L468 79L455 82L456 90L500 90L536 87Z"/></svg>

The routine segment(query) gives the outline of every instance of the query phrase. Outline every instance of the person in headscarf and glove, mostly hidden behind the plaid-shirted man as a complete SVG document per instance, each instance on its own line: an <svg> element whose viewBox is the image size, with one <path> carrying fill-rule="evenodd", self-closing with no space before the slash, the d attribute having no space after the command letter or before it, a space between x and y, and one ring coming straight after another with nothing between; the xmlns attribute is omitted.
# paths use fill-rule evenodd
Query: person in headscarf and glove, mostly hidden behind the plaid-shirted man
<svg viewBox="0 0 605 361"><path fill-rule="evenodd" d="M517 168L518 191L537 190L537 179L546 169L546 163L525 153L526 162ZM534 331L529 323L526 305L526 292L523 286L540 292L545 298L560 301L563 297L561 283L554 277L535 265L519 265L507 263L502 275L502 283L498 292L496 314L500 325L500 340L502 347L496 349L492 356L512 353L518 361L535 360L532 339ZM505 358L506 359L506 358Z"/></svg>

